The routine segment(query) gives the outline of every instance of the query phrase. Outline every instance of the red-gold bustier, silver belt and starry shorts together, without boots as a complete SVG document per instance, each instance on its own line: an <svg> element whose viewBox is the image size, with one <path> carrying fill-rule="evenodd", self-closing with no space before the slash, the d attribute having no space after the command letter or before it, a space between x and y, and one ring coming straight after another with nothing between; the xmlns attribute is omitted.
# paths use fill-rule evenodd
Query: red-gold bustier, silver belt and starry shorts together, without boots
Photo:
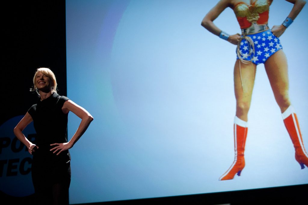
<svg viewBox="0 0 308 205"><path fill-rule="evenodd" d="M241 40L237 45L237 59L244 63L264 63L282 49L279 38L267 25L269 8L267 0L257 0L249 6L241 2L234 8L242 30Z"/></svg>

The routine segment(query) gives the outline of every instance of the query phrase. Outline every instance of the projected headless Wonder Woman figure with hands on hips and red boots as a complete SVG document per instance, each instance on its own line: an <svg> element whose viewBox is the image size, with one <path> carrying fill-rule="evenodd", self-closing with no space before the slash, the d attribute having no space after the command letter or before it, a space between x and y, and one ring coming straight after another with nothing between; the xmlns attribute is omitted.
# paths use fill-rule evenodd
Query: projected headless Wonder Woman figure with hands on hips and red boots
<svg viewBox="0 0 308 205"><path fill-rule="evenodd" d="M247 115L253 91L256 67L263 63L274 97L280 107L282 118L295 148L295 159L301 168L308 167L308 155L302 143L298 119L289 98L288 65L279 37L290 26L305 5L303 0L287 0L294 4L290 14L281 25L268 26L269 9L273 0L221 0L206 14L201 25L211 33L237 45L234 65L234 91L236 116L234 118L235 159L219 180L240 176L245 167L244 150L248 132ZM231 8L241 27L241 35L229 35L220 30L213 21Z"/></svg>

